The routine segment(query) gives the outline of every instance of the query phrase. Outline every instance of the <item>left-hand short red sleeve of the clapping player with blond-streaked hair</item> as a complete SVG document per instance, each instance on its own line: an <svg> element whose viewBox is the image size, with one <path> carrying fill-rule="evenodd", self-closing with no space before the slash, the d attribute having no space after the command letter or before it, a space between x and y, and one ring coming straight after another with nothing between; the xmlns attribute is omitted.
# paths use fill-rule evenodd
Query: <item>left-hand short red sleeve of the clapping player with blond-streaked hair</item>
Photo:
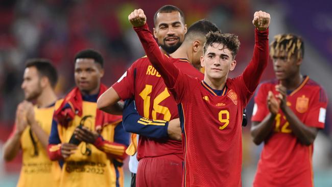
<svg viewBox="0 0 332 187"><path fill-rule="evenodd" d="M251 121L253 122L262 122L266 115L269 114L267 108L266 98L267 91L264 89L264 84L260 84L256 90L254 97L254 108L252 110Z"/></svg>

